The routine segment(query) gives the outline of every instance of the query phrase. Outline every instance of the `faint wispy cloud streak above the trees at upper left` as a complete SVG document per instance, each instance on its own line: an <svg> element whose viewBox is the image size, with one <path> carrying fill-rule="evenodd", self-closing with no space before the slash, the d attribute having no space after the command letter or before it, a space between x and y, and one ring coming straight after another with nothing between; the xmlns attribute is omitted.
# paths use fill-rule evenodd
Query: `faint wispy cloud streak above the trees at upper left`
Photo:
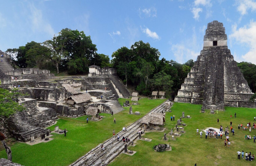
<svg viewBox="0 0 256 166"><path fill-rule="evenodd" d="M30 16L29 19L31 21L31 28L33 32L41 31L46 32L49 35L54 35L54 30L52 26L47 23L46 20L43 19L42 11L35 8L33 4L29 4L30 8Z"/></svg>

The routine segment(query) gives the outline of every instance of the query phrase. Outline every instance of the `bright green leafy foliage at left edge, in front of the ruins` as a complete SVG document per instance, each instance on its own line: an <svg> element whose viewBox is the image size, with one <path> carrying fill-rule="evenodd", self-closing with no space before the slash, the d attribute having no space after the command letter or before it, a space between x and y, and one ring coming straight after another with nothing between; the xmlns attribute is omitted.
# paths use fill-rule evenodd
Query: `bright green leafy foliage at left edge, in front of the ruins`
<svg viewBox="0 0 256 166"><path fill-rule="evenodd" d="M9 92L0 88L0 116L9 118L15 112L25 110L22 105L16 102L19 97L21 97L21 94L18 93L18 89Z"/></svg>

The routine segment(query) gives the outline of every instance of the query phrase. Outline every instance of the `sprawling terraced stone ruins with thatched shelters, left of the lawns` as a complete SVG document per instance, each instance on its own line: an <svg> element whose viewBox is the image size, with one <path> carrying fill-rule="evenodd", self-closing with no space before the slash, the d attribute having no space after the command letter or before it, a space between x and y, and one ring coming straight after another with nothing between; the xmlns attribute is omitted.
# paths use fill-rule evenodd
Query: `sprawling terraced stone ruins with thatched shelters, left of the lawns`
<svg viewBox="0 0 256 166"><path fill-rule="evenodd" d="M99 113L116 114L124 110L117 99L131 96L119 81L116 69L90 66L88 77L57 78L49 70L14 69L8 55L4 55L5 63L0 67L0 88L11 90L20 85L18 91L26 95L19 99L19 103L26 110L11 116L4 123L3 132L8 131L22 142L50 133L45 127L55 124L57 116L76 118L88 114L97 119ZM17 81L11 80L13 76Z"/></svg>

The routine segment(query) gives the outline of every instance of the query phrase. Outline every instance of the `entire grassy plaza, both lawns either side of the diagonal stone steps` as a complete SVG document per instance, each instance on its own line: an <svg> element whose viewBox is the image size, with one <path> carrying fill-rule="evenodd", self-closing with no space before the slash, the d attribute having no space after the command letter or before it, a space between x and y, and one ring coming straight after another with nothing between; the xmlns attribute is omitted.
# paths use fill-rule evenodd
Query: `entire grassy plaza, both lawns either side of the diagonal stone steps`
<svg viewBox="0 0 256 166"><path fill-rule="evenodd" d="M122 104L126 99L119 99ZM130 100L130 99L129 99ZM25 166L67 166L76 161L79 157L89 152L92 148L95 148L100 143L112 136L112 131L119 132L122 130L123 126L128 126L129 124L135 122L140 117L144 116L151 109L161 104L165 100L161 99L147 99L142 98L139 100L139 105L132 106L132 111L139 111L141 114L129 115L129 107L125 107L125 110L115 114L111 117L110 114L101 114L105 116L99 122L89 121L86 124L86 116L79 118L62 118L58 120L56 125L60 129L67 128L67 137L63 134L53 133L52 138L54 140L47 143L40 143L33 146L27 145L25 143L15 143L12 147L13 162L20 163ZM179 165L206 165L206 163L227 166L227 165L254 165L255 161L246 161L245 159L237 159L237 151L251 152L256 155L255 143L252 140L244 140L245 134L249 134L253 137L256 135L256 129L252 129L251 133L249 130L238 130L238 124L246 125L251 122L251 126L254 123L254 116L256 115L255 109L251 108L234 108L225 107L225 111L218 111L218 114L210 114L209 110L205 113L201 112L201 105L193 105L188 103L174 103L171 108L172 112L166 112L166 123L164 132L148 132L143 135L143 137L152 139L151 142L136 141L136 146L129 146L129 150L136 151L132 156L126 154L120 154L110 166L119 165L145 165L145 166L179 166ZM163 141L162 137L164 133L169 133L171 128L175 127L177 120L182 116L182 112L185 112L185 117L190 115L190 119L183 118L182 123L185 123L184 131L177 140L173 141L169 139L168 141ZM236 113L236 118L234 118L234 113ZM170 117L175 115L175 121L171 121ZM230 118L232 115L232 118ZM114 117L117 123L113 123ZM217 123L219 118L220 122ZM207 138L205 139L205 133L203 132L202 137L196 135L196 128L204 130L207 127L219 128L220 125L225 127L230 127L230 121L232 121L232 126L235 130L234 135L230 134L230 148L224 147L224 138L215 139ZM54 130L54 126L50 126L49 129ZM175 132L175 130L173 130ZM171 136L168 135L168 138ZM155 152L153 150L154 145L159 143L171 144L172 151L166 152ZM5 150L0 152L0 156L7 158Z"/></svg>

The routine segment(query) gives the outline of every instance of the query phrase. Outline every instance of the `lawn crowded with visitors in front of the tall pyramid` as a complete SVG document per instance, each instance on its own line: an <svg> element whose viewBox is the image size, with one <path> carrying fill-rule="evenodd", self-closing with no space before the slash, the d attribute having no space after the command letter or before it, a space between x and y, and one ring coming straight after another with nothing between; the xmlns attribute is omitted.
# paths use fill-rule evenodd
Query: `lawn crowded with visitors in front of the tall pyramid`
<svg viewBox="0 0 256 166"><path fill-rule="evenodd" d="M151 142L138 140L136 146L129 146L129 150L134 150L136 153L133 156L126 154L119 155L110 166L189 166L197 163L198 166L206 165L256 165L256 161L246 161L245 159L237 159L237 151L251 152L256 155L256 144L253 140L244 140L244 135L249 134L249 130L238 130L238 124L247 124L254 122L254 116L256 115L255 109L250 108L234 108L225 107L225 111L218 111L218 114L210 114L210 110L206 110L206 113L200 113L201 105L193 105L188 103L175 103L171 108L172 112L166 113L166 133L170 132L171 128L175 127L177 120L182 116L182 112L186 115L190 115L190 119L182 119L182 123L187 124L184 127L184 134L177 138L177 140L161 141L165 132L150 132L146 133L144 137L152 139ZM236 118L234 118L236 113ZM175 121L171 121L171 115L175 115ZM232 118L230 118L232 115ZM219 118L220 122L217 123ZM200 135L196 135L196 128L199 131L206 127L219 128L222 125L230 127L230 121L235 130L235 135L230 134L230 148L224 147L224 139L207 138L205 139L205 133L203 132L203 138ZM255 129L252 129L251 136L256 135ZM224 138L223 136L223 138ZM171 143L172 151L155 152L153 150L154 145L159 143L169 144ZM129 163L129 164L127 164Z"/></svg>

